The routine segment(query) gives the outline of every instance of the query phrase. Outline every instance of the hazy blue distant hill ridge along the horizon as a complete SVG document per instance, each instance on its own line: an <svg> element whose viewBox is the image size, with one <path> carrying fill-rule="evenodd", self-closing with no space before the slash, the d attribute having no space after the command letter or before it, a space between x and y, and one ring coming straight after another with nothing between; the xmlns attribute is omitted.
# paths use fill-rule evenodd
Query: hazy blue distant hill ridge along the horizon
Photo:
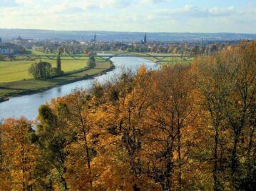
<svg viewBox="0 0 256 191"><path fill-rule="evenodd" d="M0 29L0 38L9 41L21 36L29 39L91 40L97 35L99 41L140 41L144 33L115 31L48 31L32 29ZM149 41L237 41L240 39L256 39L252 33L147 33Z"/></svg>

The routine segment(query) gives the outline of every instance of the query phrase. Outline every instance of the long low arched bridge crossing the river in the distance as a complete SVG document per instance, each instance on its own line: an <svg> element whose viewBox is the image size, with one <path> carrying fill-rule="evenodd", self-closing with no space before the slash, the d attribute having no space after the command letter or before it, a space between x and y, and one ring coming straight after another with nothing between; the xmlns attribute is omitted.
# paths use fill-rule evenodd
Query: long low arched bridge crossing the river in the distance
<svg viewBox="0 0 256 191"><path fill-rule="evenodd" d="M17 58L17 57L26 57L26 58L57 58L58 55L48 55L48 54L42 54L42 55L33 55L33 54L14 54L5 56L6 58ZM184 55L152 55L149 53L130 53L130 52L123 52L123 53L117 53L117 54L96 54L96 55L86 55L86 54L74 54L74 55L61 55L61 58L73 58L73 59L79 59L83 57L94 57L98 58L98 61L110 61L111 58L116 57L140 57L140 58L155 58L155 62L170 62L170 61L190 61L190 58L193 58L195 56L184 56ZM166 60L165 58L176 58L172 60ZM180 59L180 60L178 60Z"/></svg>

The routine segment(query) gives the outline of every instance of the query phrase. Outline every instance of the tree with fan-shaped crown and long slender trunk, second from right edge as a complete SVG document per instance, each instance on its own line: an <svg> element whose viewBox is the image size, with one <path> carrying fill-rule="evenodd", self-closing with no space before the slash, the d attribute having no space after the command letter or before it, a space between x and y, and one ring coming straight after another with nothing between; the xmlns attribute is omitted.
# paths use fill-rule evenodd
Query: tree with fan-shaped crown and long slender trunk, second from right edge
<svg viewBox="0 0 256 191"><path fill-rule="evenodd" d="M214 190L220 190L220 180L218 178L218 153L220 133L223 121L226 118L225 111L230 93L233 89L233 73L235 71L230 67L230 63L224 63L222 56L201 57L195 61L194 67L197 67L197 86L200 89L202 104L205 110L205 117L210 119L210 124L214 130L214 148L213 148L213 182ZM200 95L199 95L200 96Z"/></svg>

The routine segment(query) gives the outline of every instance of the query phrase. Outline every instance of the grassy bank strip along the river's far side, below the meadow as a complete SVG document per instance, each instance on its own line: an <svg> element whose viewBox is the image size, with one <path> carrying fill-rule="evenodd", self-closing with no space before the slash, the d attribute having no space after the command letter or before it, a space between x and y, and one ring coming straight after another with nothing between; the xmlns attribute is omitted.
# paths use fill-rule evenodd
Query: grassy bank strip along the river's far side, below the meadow
<svg viewBox="0 0 256 191"><path fill-rule="evenodd" d="M111 71L113 68L115 68L115 66L113 63L111 63L111 61L96 62L95 68L85 68L84 71L78 71L77 73L70 73L43 81L29 79L24 81L0 83L0 102L9 100L9 98L16 96L38 93L41 91L46 91L55 86L61 86L67 83L93 78L94 76L102 75L103 73Z"/></svg>

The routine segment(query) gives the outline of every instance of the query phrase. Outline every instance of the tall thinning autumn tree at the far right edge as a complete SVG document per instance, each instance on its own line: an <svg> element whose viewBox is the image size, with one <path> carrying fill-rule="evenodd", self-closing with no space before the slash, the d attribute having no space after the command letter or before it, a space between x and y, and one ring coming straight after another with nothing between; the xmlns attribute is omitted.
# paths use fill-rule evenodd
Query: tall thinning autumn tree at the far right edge
<svg viewBox="0 0 256 191"><path fill-rule="evenodd" d="M239 185L243 155L246 155L244 150L238 150L240 139L247 139L244 133L249 132L253 137L252 113L255 111L256 100L256 45L255 42L250 43L242 41L240 45L226 52L224 61L232 63L232 68L235 68L234 78L235 86L229 98L227 109L227 121L233 131L233 146L231 153L231 168L236 175L235 181ZM252 117L252 118L251 118ZM251 134L252 133L252 134ZM249 138L249 142L252 138ZM243 142L243 141L242 141ZM244 143L240 145L242 147ZM249 144L250 145L250 144ZM248 147L250 148L250 146ZM249 170L250 171L250 170ZM236 180L238 178L238 180Z"/></svg>

